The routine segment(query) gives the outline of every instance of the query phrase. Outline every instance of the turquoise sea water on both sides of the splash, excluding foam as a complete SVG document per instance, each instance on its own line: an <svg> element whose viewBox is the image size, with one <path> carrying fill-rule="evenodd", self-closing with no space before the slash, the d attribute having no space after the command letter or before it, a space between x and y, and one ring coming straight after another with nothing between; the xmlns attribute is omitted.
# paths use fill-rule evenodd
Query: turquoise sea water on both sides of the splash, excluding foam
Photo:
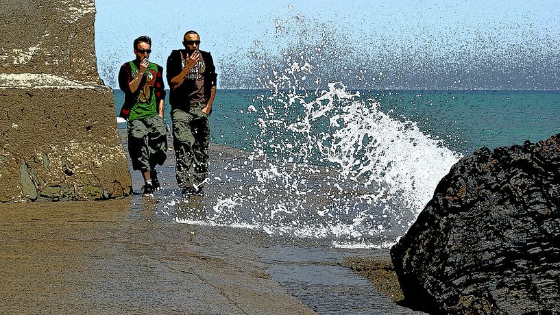
<svg viewBox="0 0 560 315"><path fill-rule="evenodd" d="M218 90L210 116L212 142L252 150L257 116L247 108L258 107L259 95L267 92ZM123 97L121 90L114 90L117 113ZM417 123L420 131L441 139L456 153L536 142L560 132L559 91L385 90L361 91L358 99L379 101L382 112ZM171 124L170 110L167 105L165 119Z"/></svg>

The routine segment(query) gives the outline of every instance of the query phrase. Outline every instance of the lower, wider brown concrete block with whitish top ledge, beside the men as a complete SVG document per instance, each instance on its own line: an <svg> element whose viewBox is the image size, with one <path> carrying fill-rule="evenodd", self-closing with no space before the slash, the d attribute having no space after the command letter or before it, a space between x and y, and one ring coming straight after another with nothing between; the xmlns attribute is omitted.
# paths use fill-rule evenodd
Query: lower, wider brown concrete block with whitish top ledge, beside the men
<svg viewBox="0 0 560 315"><path fill-rule="evenodd" d="M112 90L45 74L0 74L0 201L130 194Z"/></svg>

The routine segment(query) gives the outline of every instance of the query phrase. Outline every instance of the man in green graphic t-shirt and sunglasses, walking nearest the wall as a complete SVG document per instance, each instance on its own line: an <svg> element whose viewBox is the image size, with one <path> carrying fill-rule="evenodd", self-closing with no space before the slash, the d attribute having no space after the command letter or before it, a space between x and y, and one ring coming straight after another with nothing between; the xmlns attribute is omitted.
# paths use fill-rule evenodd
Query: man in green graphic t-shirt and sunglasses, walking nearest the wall
<svg viewBox="0 0 560 315"><path fill-rule="evenodd" d="M136 59L123 64L119 71L119 87L125 93L120 116L128 120L128 152L132 169L141 171L144 177L144 196L150 196L159 188L156 165L162 165L167 157L163 68L149 62L150 53L151 39L148 36L136 38Z"/></svg>

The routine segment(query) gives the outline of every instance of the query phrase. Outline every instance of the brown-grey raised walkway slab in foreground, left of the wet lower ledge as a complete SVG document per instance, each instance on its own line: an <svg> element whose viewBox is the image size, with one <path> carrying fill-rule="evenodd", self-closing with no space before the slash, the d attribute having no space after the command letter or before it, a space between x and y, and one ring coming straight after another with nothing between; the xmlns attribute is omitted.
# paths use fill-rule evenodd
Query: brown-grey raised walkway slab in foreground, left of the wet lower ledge
<svg viewBox="0 0 560 315"><path fill-rule="evenodd" d="M2 314L313 314L246 246L130 199L0 204Z"/></svg>

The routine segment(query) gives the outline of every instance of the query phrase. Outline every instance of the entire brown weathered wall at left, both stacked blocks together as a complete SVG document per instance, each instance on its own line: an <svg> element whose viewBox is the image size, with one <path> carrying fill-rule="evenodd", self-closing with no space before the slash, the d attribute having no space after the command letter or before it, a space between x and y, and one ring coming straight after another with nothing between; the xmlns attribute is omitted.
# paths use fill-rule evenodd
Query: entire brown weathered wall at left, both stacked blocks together
<svg viewBox="0 0 560 315"><path fill-rule="evenodd" d="M97 73L95 2L0 5L0 201L130 194L112 90Z"/></svg>

